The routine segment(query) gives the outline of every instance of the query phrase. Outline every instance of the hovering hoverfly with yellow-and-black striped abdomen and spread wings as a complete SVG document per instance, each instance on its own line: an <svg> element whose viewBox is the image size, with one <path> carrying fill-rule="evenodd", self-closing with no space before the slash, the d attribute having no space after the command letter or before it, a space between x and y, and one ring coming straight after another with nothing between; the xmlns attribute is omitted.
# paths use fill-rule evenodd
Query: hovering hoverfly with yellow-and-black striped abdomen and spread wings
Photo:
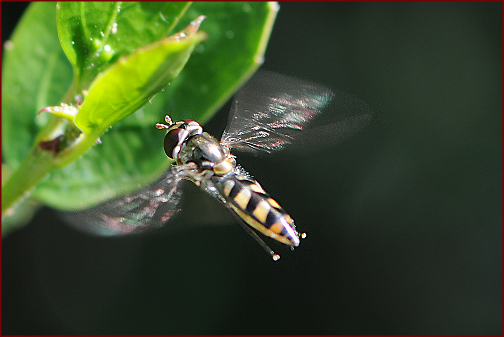
<svg viewBox="0 0 504 337"><path fill-rule="evenodd" d="M289 214L236 164L231 150L272 153L299 139L309 144L327 137L327 130L300 131L334 96L335 93L324 86L260 71L233 98L228 124L220 141L204 132L197 121L174 122L165 116L165 123L157 123L156 127L167 130L164 150L174 160L172 167L147 188L75 214L86 219L87 230L104 235L159 228L179 211L179 182L185 179L218 199L268 254L278 260L280 256L256 231L291 248L299 245L305 233L298 233ZM365 108L359 109L352 106L358 99L341 93L338 98L342 99L342 104L350 101L346 110L351 113L325 125L330 127L333 139L353 133L370 119L365 104ZM305 133L305 136L300 138L298 133Z"/></svg>

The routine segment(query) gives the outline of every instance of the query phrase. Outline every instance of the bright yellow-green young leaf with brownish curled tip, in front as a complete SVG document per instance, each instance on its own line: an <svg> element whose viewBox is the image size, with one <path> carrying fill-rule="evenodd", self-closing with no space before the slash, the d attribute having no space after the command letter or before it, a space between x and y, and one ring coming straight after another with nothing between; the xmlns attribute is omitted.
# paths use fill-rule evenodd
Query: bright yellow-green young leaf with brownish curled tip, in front
<svg viewBox="0 0 504 337"><path fill-rule="evenodd" d="M182 70L205 34L198 33L203 17L184 31L184 38L167 37L121 56L91 84L74 120L84 132L110 125L145 105Z"/></svg>

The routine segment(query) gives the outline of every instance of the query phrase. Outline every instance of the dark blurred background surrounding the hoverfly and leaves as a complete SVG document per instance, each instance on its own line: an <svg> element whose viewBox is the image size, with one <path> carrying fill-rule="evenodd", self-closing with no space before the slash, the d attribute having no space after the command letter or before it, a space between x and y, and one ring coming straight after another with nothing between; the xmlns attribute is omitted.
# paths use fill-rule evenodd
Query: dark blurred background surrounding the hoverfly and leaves
<svg viewBox="0 0 504 337"><path fill-rule="evenodd" d="M26 6L2 3L2 43ZM178 223L233 225L102 238L45 208L2 241L2 333L501 334L501 26L502 3L281 3L264 68L375 111L309 156L238 157L307 239L273 262L188 184Z"/></svg>

